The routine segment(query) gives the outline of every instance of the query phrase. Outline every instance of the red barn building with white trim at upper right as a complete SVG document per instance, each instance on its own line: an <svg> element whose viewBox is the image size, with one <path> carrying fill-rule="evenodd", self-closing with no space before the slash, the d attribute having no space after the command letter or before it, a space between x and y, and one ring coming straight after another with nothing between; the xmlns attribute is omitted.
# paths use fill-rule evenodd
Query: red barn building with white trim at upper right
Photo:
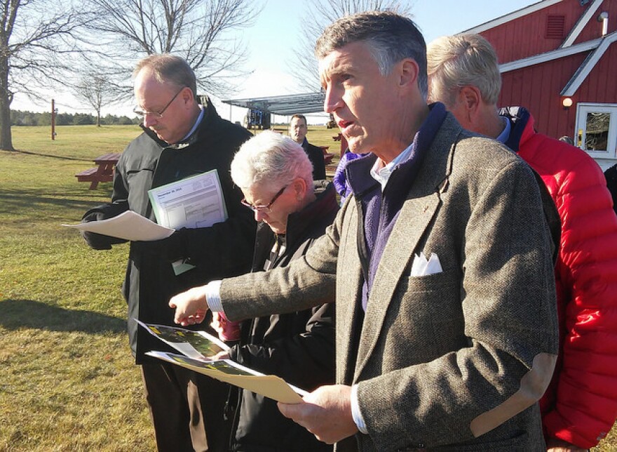
<svg viewBox="0 0 617 452"><path fill-rule="evenodd" d="M617 163L617 1L543 0L468 29L495 48L499 105L522 105L538 132L569 135L602 169Z"/></svg>

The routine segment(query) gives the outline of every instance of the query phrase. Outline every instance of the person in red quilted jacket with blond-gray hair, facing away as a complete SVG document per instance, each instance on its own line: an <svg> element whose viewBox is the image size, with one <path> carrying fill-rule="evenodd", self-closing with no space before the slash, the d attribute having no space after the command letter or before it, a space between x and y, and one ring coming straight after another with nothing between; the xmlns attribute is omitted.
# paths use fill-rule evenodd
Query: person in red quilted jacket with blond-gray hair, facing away
<svg viewBox="0 0 617 452"><path fill-rule="evenodd" d="M555 280L560 354L540 401L549 451L597 445L617 416L617 217L588 154L534 130L522 107L498 111L497 55L479 34L428 45L429 100L470 131L504 142L541 176L561 218Z"/></svg>

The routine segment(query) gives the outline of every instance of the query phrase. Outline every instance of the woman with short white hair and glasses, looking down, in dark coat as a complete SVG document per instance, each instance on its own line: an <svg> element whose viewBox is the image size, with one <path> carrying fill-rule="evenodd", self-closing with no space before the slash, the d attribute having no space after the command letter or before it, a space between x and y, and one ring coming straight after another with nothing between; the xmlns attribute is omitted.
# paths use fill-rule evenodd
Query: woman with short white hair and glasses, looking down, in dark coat
<svg viewBox="0 0 617 452"><path fill-rule="evenodd" d="M258 222L253 272L302 258L339 210L332 183L313 182L302 147L278 133L264 131L245 142L231 162L231 178ZM332 384L333 317L334 305L326 304L244 321L229 356L305 390ZM228 411L231 451L332 451L262 395L232 387Z"/></svg>

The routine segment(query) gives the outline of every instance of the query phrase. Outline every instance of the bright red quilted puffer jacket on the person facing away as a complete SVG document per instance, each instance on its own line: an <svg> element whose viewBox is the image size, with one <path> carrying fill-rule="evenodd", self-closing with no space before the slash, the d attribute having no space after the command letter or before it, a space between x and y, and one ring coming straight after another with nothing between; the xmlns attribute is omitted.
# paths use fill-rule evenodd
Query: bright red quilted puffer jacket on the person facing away
<svg viewBox="0 0 617 452"><path fill-rule="evenodd" d="M540 401L545 435L595 446L617 417L617 216L599 166L581 149L534 131L509 107L506 145L541 175L562 222L555 265L560 354Z"/></svg>

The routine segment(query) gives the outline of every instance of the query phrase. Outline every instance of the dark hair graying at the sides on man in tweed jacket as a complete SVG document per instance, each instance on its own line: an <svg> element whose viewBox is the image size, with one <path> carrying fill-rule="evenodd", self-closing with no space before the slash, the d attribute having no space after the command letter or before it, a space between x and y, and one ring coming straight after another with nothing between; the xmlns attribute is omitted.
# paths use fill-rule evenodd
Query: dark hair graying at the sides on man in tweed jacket
<svg viewBox="0 0 617 452"><path fill-rule="evenodd" d="M323 60L328 53L358 41L369 46L383 76L390 74L399 61L412 58L419 66L418 86L426 99L426 43L413 20L391 11L344 16L323 31L315 55Z"/></svg>

